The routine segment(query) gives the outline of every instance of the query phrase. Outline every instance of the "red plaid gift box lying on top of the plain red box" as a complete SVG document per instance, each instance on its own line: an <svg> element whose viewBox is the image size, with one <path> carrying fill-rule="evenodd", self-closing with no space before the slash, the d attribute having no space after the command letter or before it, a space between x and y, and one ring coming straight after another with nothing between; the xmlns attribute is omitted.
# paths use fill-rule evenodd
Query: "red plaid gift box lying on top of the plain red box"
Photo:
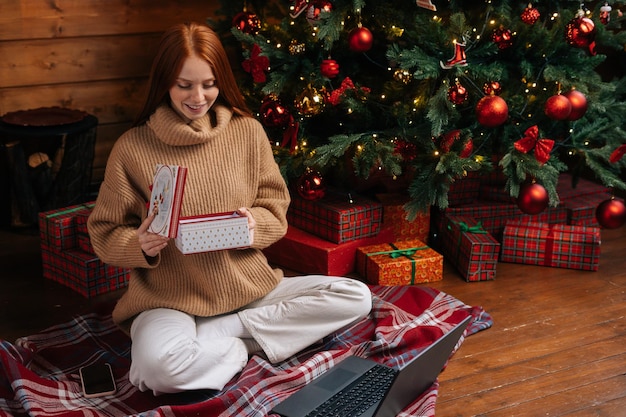
<svg viewBox="0 0 626 417"><path fill-rule="evenodd" d="M293 196L287 211L290 225L333 243L376 236L382 217L379 202L336 191L313 201Z"/></svg>

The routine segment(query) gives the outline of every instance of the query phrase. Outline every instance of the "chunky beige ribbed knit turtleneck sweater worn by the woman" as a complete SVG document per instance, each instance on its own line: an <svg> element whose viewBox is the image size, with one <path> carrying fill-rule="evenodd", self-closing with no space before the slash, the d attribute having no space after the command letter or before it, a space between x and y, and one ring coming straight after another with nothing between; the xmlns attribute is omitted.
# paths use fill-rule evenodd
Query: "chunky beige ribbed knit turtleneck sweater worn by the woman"
<svg viewBox="0 0 626 417"><path fill-rule="evenodd" d="M147 215L157 163L188 168L181 216L248 207L257 222L253 247L183 255L170 241L157 257L146 258L136 229ZM88 221L100 259L131 268L114 321L128 330L147 309L213 316L263 297L283 274L269 266L260 249L286 233L289 201L258 121L215 105L210 115L188 125L170 107L157 109L147 124L115 143Z"/></svg>

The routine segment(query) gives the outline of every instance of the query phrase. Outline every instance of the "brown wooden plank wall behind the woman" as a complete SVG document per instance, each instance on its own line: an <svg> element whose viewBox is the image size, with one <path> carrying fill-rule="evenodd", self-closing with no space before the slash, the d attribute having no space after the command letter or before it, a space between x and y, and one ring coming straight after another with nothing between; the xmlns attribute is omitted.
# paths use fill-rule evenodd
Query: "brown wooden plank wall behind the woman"
<svg viewBox="0 0 626 417"><path fill-rule="evenodd" d="M60 106L99 120L92 182L139 111L162 31L217 0L2 0L0 115Z"/></svg>

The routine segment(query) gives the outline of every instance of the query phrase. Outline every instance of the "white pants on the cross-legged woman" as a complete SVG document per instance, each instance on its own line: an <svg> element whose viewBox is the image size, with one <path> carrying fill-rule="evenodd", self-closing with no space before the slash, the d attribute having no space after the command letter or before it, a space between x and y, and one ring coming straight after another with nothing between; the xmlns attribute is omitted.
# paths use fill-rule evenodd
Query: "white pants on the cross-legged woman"
<svg viewBox="0 0 626 417"><path fill-rule="evenodd" d="M271 362L284 360L369 314L362 282L342 277L287 277L265 297L234 312ZM211 318L144 311L131 327L130 382L155 395L221 390L248 362L239 337L215 337Z"/></svg>

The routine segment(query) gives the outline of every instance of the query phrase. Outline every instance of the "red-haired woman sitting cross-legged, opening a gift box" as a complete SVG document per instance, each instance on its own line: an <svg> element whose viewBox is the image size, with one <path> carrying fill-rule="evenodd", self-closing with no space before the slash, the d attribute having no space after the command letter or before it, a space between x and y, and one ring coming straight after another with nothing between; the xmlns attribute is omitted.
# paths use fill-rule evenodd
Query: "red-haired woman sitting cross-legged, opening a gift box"
<svg viewBox="0 0 626 417"><path fill-rule="evenodd" d="M131 382L155 395L220 390L263 352L282 361L365 317L371 293L339 277L284 278L261 249L287 230L289 193L218 36L181 24L163 36L148 94L113 147L89 234L96 254L130 268L113 319L132 339ZM182 216L237 210L248 249L183 255L149 233L157 163L188 168Z"/></svg>

